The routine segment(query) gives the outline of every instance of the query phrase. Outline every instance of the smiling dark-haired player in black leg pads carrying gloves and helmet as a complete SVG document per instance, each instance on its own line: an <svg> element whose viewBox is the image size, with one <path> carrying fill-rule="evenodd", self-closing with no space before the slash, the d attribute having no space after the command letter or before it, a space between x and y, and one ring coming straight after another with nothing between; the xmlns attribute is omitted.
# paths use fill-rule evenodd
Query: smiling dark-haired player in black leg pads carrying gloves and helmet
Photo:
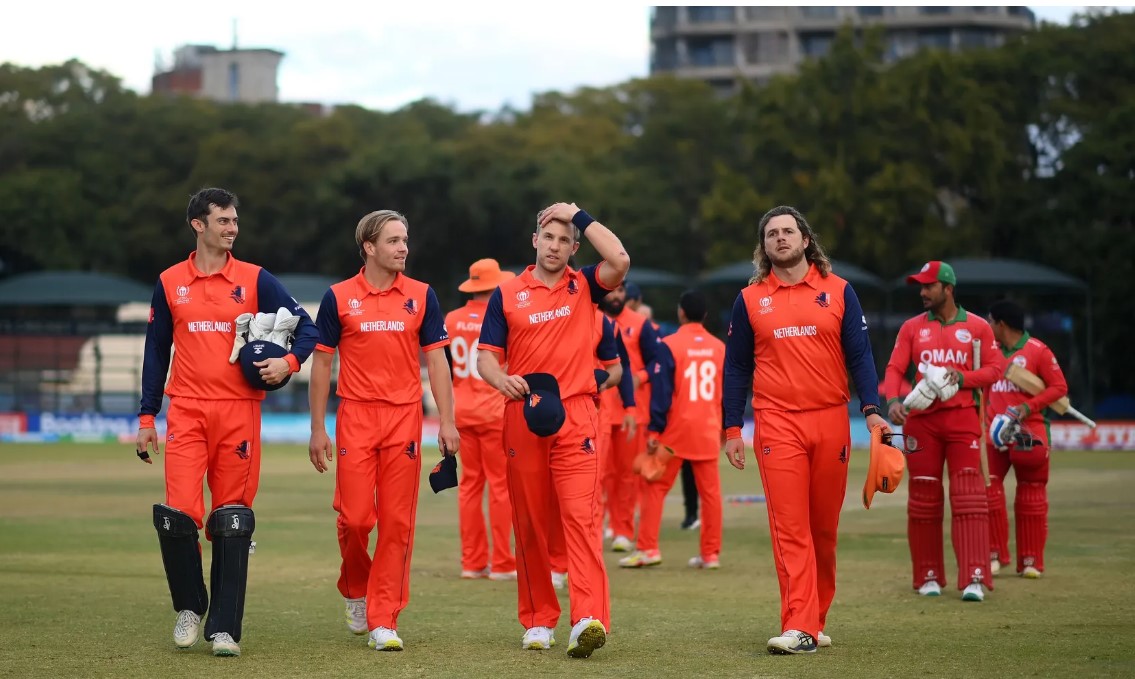
<svg viewBox="0 0 1135 679"><path fill-rule="evenodd" d="M153 523L177 611L174 644L178 648L196 644L208 610L205 638L212 642L213 655L229 656L241 654L264 397L245 379L241 366L229 361L236 317L276 313L280 308L300 317L291 352L254 363L267 384L280 384L299 371L316 346L311 318L279 280L233 257L239 232L237 204L236 195L224 188L202 188L190 199L185 218L196 236L196 250L162 271L154 286L136 442L138 456L152 464L150 451L160 452L154 417L165 387L169 395L166 503L153 505ZM202 477L211 495L208 521ZM201 571L202 526L212 542L211 597Z"/></svg>

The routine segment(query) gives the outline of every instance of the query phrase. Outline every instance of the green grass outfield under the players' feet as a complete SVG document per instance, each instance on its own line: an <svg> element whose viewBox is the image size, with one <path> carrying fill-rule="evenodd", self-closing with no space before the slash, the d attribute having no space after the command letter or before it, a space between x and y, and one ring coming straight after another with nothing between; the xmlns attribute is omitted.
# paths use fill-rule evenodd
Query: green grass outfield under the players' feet
<svg viewBox="0 0 1135 679"><path fill-rule="evenodd" d="M780 600L763 504L725 505L720 571L686 568L697 535L663 522L666 561L625 571L607 554L613 634L571 661L568 597L550 652L520 649L513 582L457 578L456 493L429 492L426 451L403 653L346 631L335 588L334 477L301 446L269 446L257 498L257 553L244 655L176 651L175 614L151 504L159 464L133 447L0 445L0 676L5 677L1132 677L1135 676L1135 454L1054 453L1048 572L1000 577L984 603L910 589L906 483L864 511L866 455L852 455L840 528L839 589L812 656L770 656ZM726 494L759 493L756 464L723 462ZM1011 493L1011 488L1010 488ZM1010 495L1011 497L1011 495ZM1011 504L1011 500L1010 500ZM947 520L949 527L949 520ZM207 550L208 569L208 550ZM947 570L955 572L947 546Z"/></svg>

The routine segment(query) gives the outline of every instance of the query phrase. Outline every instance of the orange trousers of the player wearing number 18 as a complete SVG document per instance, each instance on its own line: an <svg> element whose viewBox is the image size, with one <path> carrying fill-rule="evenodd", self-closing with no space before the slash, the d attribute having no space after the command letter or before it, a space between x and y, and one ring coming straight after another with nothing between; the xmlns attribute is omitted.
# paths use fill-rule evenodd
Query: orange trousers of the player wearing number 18
<svg viewBox="0 0 1135 679"><path fill-rule="evenodd" d="M662 509L666 494L682 471L683 459L674 455L666 464L662 478L650 483L642 479L642 515L639 520L638 548L649 552L658 548L662 531ZM721 554L721 471L717 459L690 460L693 483L701 496L701 559L709 561Z"/></svg>

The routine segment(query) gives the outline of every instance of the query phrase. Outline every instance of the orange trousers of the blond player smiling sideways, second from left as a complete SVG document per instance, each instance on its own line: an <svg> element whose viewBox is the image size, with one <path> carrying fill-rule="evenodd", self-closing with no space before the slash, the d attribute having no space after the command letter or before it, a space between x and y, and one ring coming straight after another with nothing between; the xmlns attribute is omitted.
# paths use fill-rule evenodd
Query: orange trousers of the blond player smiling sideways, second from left
<svg viewBox="0 0 1135 679"><path fill-rule="evenodd" d="M410 603L421 437L421 403L339 401L334 504L343 556L338 587L347 598L367 597L370 629L397 629L398 613Z"/></svg>

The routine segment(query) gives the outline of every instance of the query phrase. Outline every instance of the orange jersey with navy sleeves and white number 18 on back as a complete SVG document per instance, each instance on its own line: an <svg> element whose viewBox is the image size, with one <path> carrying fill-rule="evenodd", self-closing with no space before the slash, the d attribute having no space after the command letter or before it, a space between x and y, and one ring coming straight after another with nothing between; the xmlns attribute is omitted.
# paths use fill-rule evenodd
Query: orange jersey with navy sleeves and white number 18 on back
<svg viewBox="0 0 1135 679"><path fill-rule="evenodd" d="M664 337L650 366L650 426L658 441L687 460L721 451L721 387L725 343L699 322Z"/></svg>

